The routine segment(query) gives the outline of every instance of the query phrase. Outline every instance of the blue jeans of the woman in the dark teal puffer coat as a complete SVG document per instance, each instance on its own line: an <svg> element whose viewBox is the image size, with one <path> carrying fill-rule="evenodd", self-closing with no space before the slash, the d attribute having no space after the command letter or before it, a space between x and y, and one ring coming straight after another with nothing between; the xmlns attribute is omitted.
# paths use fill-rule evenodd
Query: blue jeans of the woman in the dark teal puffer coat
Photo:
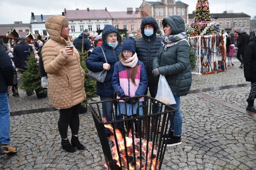
<svg viewBox="0 0 256 170"><path fill-rule="evenodd" d="M182 134L182 114L180 111L180 97L174 96L176 104L171 104L170 106L174 107L178 111L174 113L173 123L171 125L171 130L174 131L174 136L181 136ZM172 113L170 113L170 121L172 118Z"/></svg>

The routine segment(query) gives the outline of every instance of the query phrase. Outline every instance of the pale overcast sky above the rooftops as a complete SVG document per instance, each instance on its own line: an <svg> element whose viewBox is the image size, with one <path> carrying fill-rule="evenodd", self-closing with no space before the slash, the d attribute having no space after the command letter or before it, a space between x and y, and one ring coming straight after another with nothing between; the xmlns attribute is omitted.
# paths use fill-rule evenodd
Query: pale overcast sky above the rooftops
<svg viewBox="0 0 256 170"><path fill-rule="evenodd" d="M157 1L157 0L148 0ZM160 0L159 0L160 1ZM188 12L196 8L197 0L181 0L188 4ZM255 0L208 0L210 13L244 12L252 18L256 15ZM30 23L31 12L34 15L61 15L67 10L105 9L108 11L126 11L127 8L139 8L142 0L0 0L0 24L10 24L14 21Z"/></svg>

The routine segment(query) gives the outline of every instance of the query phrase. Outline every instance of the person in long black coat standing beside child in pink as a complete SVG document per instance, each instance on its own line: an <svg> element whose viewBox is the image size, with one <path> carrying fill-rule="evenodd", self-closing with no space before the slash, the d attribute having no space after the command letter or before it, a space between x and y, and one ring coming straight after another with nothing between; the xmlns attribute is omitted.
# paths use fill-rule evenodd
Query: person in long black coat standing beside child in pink
<svg viewBox="0 0 256 170"><path fill-rule="evenodd" d="M243 68L244 67L244 52L245 52L245 48L246 45L249 42L249 38L250 36L248 34L246 34L246 27L241 29L241 36L239 36L238 42L237 42L237 55L236 58L241 62L241 65L239 66L239 68ZM240 57L240 55L242 55L242 58Z"/></svg>

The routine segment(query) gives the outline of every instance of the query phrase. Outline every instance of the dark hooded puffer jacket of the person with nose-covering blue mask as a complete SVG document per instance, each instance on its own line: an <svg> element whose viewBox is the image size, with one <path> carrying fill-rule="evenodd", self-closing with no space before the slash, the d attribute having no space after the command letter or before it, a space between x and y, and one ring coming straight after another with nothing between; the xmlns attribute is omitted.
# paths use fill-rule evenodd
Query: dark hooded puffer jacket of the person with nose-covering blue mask
<svg viewBox="0 0 256 170"><path fill-rule="evenodd" d="M150 37L147 37L144 33L144 26L146 23L152 23L154 25L154 33ZM142 37L135 40L136 42L136 53L138 59L145 65L146 72L148 75L148 81L151 81L152 77L152 61L153 57L158 52L161 46L161 37L156 37L158 24L152 16L147 16L142 20L141 23L141 34Z"/></svg>

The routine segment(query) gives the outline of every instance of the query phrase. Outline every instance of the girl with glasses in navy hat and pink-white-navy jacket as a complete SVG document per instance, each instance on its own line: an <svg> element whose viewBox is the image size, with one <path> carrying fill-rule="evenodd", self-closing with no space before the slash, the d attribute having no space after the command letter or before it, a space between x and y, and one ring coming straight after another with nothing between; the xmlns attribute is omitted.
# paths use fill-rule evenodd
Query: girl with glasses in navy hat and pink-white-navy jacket
<svg viewBox="0 0 256 170"><path fill-rule="evenodd" d="M130 38L126 38L121 50L119 54L120 61L115 63L112 77L114 90L121 92L121 94L117 94L117 99L144 95L148 87L148 77L144 64L138 60L135 53L134 42ZM120 108L117 108L117 115L122 114L126 118L136 116L137 100L138 98L126 99L127 107L125 107L125 101L120 100ZM139 105L142 105L143 101L144 98L140 98ZM143 115L142 107L139 109L139 115Z"/></svg>

